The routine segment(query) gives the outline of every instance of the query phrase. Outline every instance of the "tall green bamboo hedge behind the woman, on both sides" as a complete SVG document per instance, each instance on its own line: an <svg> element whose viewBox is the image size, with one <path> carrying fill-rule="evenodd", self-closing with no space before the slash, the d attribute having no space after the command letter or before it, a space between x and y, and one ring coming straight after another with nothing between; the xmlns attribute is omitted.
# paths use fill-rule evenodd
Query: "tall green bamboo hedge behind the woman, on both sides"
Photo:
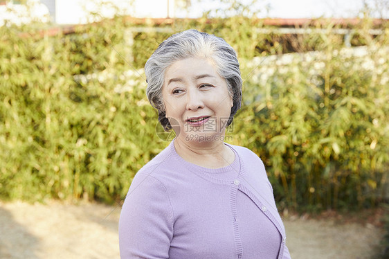
<svg viewBox="0 0 389 259"><path fill-rule="evenodd" d="M237 50L244 105L228 134L262 157L280 206L381 202L389 161L386 26L377 37L367 33L368 21L357 26L352 43L365 45L362 58L342 54L330 24L328 33L307 35L258 33L263 25L242 17L147 26L197 28ZM0 28L1 199L114 202L168 145L156 134L142 67L170 32L138 27L119 18L53 37L40 37L36 25ZM293 51L320 55L293 57L264 78L273 66L267 56Z"/></svg>

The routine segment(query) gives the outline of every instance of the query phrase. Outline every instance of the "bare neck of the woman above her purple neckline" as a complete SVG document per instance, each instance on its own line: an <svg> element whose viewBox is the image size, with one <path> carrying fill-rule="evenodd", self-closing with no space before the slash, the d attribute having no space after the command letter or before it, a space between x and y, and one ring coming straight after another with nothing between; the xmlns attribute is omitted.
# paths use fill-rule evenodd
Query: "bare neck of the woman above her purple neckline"
<svg viewBox="0 0 389 259"><path fill-rule="evenodd" d="M223 141L192 143L177 138L174 148L184 160L204 168L223 168L235 159L235 153Z"/></svg>

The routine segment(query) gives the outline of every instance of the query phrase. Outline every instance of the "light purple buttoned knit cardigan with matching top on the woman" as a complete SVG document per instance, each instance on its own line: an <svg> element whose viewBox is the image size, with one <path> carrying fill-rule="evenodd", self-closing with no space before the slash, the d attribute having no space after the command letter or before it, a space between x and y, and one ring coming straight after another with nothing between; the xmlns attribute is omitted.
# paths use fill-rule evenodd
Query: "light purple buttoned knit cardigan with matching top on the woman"
<svg viewBox="0 0 389 259"><path fill-rule="evenodd" d="M228 146L225 168L188 163L172 141L139 170L120 214L122 259L290 258L262 161Z"/></svg>

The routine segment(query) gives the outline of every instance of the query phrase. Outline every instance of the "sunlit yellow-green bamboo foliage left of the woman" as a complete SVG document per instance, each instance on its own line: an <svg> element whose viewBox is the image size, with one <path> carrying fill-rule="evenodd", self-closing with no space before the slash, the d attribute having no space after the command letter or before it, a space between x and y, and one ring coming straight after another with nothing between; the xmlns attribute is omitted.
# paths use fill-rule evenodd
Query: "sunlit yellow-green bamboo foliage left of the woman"
<svg viewBox="0 0 389 259"><path fill-rule="evenodd" d="M102 24L20 39L19 29L0 28L3 199L112 202L164 148L154 134L154 109L137 105L147 102L143 72L127 73L107 44L123 50L121 29Z"/></svg>

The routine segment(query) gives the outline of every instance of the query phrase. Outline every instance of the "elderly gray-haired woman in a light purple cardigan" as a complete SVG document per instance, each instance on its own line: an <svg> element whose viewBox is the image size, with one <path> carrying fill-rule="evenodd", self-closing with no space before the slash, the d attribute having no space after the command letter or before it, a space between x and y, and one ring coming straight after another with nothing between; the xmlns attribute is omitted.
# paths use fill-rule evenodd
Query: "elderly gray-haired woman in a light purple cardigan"
<svg viewBox="0 0 389 259"><path fill-rule="evenodd" d="M224 143L242 100L233 48L186 30L162 42L145 74L147 97L176 137L132 181L121 258L290 258L264 164Z"/></svg>

